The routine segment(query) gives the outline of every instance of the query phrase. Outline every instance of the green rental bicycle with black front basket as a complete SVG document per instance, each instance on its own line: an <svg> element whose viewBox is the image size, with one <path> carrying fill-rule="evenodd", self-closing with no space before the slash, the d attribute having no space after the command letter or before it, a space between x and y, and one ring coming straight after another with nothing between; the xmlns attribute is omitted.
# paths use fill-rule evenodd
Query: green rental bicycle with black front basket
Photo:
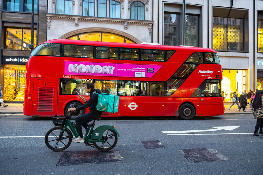
<svg viewBox="0 0 263 175"><path fill-rule="evenodd" d="M70 108L74 108L74 104L70 105ZM72 111L69 115L55 115L53 116L53 124L55 127L51 128L45 135L46 146L53 151L63 151L67 149L74 136L79 136L75 124L70 120ZM98 120L101 120L100 118ZM113 149L118 141L119 133L113 125L102 125L95 130L95 120L89 124L86 134L84 135L85 141L83 143L86 146L97 148L101 151L109 151ZM69 127L69 129L68 129Z"/></svg>

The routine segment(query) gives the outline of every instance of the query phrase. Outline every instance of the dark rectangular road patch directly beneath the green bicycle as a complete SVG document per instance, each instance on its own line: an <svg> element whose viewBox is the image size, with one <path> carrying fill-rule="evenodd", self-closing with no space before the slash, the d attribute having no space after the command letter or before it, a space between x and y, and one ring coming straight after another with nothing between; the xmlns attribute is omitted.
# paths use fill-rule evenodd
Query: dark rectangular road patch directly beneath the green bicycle
<svg viewBox="0 0 263 175"><path fill-rule="evenodd" d="M87 163L121 162L119 151L69 151L64 152L56 166Z"/></svg>

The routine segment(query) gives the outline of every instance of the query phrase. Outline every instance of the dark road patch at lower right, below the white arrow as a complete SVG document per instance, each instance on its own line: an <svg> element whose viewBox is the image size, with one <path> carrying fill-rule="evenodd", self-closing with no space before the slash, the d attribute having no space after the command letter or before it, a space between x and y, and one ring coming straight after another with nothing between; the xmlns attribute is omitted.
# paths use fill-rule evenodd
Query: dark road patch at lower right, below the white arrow
<svg viewBox="0 0 263 175"><path fill-rule="evenodd" d="M209 148L181 149L184 157L191 162L211 162L229 160L228 157Z"/></svg>

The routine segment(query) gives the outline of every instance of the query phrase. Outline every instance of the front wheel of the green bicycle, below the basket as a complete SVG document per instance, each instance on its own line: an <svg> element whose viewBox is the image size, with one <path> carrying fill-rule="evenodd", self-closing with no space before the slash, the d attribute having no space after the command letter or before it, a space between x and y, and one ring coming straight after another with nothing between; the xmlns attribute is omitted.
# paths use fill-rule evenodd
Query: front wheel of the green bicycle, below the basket
<svg viewBox="0 0 263 175"><path fill-rule="evenodd" d="M56 126L46 133L45 143L49 149L53 151L63 151L70 146L72 141L72 133L68 128L65 130L65 132L63 132L63 128L63 126ZM62 134L61 139L59 139L60 133Z"/></svg>

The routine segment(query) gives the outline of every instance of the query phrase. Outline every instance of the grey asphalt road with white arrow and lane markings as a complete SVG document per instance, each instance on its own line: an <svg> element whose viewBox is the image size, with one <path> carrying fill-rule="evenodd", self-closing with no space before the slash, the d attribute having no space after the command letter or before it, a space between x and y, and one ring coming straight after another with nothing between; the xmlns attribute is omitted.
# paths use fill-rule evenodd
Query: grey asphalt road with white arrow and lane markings
<svg viewBox="0 0 263 175"><path fill-rule="evenodd" d="M50 118L0 115L0 174L262 174L255 122L252 115L103 118L95 127L115 125L120 134L111 152L73 142L54 152L44 143Z"/></svg>

